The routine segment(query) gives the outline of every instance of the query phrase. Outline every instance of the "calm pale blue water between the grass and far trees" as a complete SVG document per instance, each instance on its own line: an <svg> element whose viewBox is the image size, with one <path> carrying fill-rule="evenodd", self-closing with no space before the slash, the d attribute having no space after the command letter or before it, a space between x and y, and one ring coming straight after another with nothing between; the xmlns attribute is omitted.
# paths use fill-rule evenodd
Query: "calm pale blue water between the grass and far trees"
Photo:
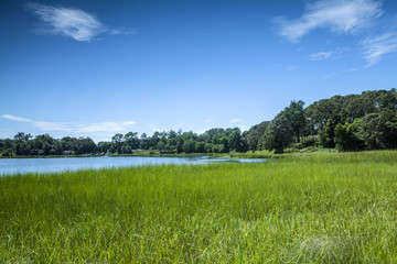
<svg viewBox="0 0 397 264"><path fill-rule="evenodd" d="M211 157L58 157L58 158L0 158L0 176L6 174L58 173L77 169L98 169L161 164L206 164L215 162L255 163L264 160Z"/></svg>

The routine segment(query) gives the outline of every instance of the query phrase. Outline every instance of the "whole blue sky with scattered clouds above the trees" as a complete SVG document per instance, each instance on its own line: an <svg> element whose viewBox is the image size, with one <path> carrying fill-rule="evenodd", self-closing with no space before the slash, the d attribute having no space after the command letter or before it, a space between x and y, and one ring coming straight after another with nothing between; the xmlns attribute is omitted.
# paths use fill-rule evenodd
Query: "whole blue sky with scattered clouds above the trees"
<svg viewBox="0 0 397 264"><path fill-rule="evenodd" d="M394 0L4 0L0 35L0 138L245 130L396 87Z"/></svg>

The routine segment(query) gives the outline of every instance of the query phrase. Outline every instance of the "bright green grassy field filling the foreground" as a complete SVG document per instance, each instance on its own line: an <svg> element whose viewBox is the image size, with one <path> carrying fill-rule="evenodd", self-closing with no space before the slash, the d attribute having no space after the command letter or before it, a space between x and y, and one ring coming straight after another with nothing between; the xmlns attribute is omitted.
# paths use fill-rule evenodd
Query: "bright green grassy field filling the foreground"
<svg viewBox="0 0 397 264"><path fill-rule="evenodd" d="M6 176L0 263L397 263L397 152Z"/></svg>

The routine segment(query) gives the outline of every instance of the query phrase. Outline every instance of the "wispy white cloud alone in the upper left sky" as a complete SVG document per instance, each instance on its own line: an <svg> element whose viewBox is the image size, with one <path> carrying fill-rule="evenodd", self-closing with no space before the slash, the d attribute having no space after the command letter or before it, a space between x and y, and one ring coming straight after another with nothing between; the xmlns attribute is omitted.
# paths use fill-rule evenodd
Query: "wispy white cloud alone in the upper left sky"
<svg viewBox="0 0 397 264"><path fill-rule="evenodd" d="M135 34L130 30L109 29L93 14L81 9L35 2L28 3L25 8L43 22L36 29L36 33L62 35L81 42L90 42L103 33L110 35Z"/></svg>

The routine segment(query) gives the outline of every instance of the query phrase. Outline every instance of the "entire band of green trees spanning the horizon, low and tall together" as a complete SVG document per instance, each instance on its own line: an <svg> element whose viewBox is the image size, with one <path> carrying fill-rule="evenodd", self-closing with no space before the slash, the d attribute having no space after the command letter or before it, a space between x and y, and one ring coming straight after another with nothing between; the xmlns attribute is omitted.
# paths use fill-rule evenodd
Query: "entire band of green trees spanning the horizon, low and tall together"
<svg viewBox="0 0 397 264"><path fill-rule="evenodd" d="M364 91L361 95L334 96L304 108L302 100L291 101L271 121L264 121L242 132L239 128L211 129L202 134L183 131L117 133L109 142L95 143L89 138L19 132L0 140L1 156L117 153L153 150L162 154L229 153L275 151L310 146L336 147L340 151L397 147L397 91Z"/></svg>

